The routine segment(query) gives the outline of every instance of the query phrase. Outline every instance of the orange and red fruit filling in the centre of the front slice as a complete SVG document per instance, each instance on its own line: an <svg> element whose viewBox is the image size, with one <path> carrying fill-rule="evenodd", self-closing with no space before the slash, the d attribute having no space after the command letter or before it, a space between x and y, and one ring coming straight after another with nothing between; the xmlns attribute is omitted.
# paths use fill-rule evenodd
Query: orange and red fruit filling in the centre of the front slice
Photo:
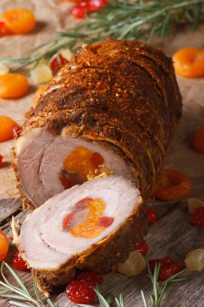
<svg viewBox="0 0 204 307"><path fill-rule="evenodd" d="M114 221L113 217L103 216L105 207L105 202L101 199L85 198L77 202L75 211L63 218L63 230L70 231L74 237L97 237Z"/></svg>

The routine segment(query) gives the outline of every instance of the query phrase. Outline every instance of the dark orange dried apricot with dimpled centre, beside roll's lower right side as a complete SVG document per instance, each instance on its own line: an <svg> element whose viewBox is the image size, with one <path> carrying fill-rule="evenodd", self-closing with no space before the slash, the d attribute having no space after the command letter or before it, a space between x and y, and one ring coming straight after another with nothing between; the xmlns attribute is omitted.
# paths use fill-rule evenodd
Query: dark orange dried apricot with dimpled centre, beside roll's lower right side
<svg viewBox="0 0 204 307"><path fill-rule="evenodd" d="M189 193L191 182L188 177L179 170L165 169L161 186L155 191L155 196L164 201L171 201Z"/></svg>

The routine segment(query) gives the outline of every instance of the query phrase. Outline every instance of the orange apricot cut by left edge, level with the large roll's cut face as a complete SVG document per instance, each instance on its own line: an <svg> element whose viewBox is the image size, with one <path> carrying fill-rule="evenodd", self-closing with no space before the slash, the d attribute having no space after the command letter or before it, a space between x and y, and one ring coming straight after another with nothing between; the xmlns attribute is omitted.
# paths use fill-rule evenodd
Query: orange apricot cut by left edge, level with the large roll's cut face
<svg viewBox="0 0 204 307"><path fill-rule="evenodd" d="M13 138L13 128L17 127L17 123L10 117L0 116L0 142L4 142Z"/></svg>

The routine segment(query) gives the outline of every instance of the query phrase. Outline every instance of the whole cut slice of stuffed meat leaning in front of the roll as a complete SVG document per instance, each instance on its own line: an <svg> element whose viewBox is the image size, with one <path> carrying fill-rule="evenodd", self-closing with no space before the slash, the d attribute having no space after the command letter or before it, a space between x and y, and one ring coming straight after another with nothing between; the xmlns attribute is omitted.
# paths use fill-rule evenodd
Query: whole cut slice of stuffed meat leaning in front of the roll
<svg viewBox="0 0 204 307"><path fill-rule="evenodd" d="M13 243L48 293L72 279L75 268L114 272L147 225L139 189L113 175L54 196L27 216L19 235L13 220Z"/></svg>

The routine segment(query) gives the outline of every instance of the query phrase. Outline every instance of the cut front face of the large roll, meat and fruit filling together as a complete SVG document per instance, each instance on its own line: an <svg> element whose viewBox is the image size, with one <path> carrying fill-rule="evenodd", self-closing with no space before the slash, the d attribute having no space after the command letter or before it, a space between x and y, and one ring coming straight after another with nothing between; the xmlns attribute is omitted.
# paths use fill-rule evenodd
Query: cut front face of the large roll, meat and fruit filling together
<svg viewBox="0 0 204 307"><path fill-rule="evenodd" d="M103 172L123 174L125 178L136 182L134 170L131 170L122 155L99 142L72 138L66 134L54 138L49 131L35 128L17 140L16 148L17 171L21 179L19 188L34 207L42 205L66 188L82 184ZM87 160L82 154L80 156L78 148L88 151L90 159ZM66 160L70 161L71 155L73 160L76 150L77 167L72 163L71 172L70 168L66 169ZM96 166L96 159L99 162L103 159L103 164ZM83 166L84 171L80 174Z"/></svg>

